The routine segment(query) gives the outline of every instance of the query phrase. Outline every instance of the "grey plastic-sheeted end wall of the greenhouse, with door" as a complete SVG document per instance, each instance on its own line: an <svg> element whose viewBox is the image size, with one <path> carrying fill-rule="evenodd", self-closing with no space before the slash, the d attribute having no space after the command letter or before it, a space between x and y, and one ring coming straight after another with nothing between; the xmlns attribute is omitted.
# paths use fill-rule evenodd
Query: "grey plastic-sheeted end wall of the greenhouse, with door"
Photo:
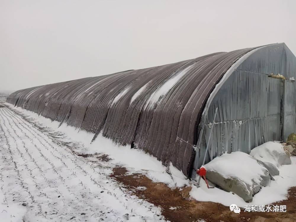
<svg viewBox="0 0 296 222"><path fill-rule="evenodd" d="M296 58L284 43L250 54L219 86L203 114L193 168L202 165L211 126L206 163L224 152L250 153L266 141L285 141L295 132L296 83L291 77L296 79Z"/></svg>

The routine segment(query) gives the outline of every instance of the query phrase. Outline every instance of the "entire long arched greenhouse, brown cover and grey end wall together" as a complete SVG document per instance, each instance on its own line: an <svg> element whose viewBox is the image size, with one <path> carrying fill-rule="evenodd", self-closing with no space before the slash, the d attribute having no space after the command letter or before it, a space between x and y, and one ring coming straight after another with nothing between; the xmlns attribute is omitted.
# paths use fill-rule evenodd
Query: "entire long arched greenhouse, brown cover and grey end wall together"
<svg viewBox="0 0 296 222"><path fill-rule="evenodd" d="M215 107L221 123L215 124L208 160L226 149L248 152L263 141L280 140L283 125L294 130L294 83L269 78L270 73L295 76L295 56L284 44L23 89L7 102L92 132L94 139L102 133L135 145L189 176L204 154ZM279 104L286 104L284 113Z"/></svg>

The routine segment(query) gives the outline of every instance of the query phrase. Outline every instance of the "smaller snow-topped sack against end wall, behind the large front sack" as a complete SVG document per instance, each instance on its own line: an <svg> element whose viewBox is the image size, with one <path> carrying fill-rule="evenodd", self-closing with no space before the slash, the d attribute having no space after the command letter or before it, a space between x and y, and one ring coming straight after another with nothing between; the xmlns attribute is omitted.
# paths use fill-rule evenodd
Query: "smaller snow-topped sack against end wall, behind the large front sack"
<svg viewBox="0 0 296 222"><path fill-rule="evenodd" d="M290 156L284 150L284 146L277 142L266 142L251 150L250 155L257 160L269 162L279 167L291 164Z"/></svg>

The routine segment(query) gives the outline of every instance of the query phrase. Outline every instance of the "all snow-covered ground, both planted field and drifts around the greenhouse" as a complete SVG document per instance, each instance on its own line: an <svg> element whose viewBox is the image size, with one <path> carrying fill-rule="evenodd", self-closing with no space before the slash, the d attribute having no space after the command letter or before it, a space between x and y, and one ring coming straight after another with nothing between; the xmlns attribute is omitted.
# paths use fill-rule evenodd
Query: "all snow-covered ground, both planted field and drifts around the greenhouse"
<svg viewBox="0 0 296 222"><path fill-rule="evenodd" d="M1 214L13 213L16 218L25 215L33 218L33 221L35 218L47 221L51 217L64 221L73 216L75 218L71 221L85 218L88 221L98 221L100 218L105 221L124 221L126 213L129 214L129 221L161 219L161 209L128 195L127 190L109 177L115 165L126 167L129 173L142 173L172 188L192 186L190 195L196 200L218 202L226 206L267 205L286 199L287 189L296 186L296 158L291 157L292 165L280 166L280 175L274 176L275 181L263 187L251 203L246 203L231 192L218 188L207 189L203 180L197 188L193 185L194 181L186 179L175 167L166 168L142 150L118 146L101 135L91 143L92 133L78 132L78 129L65 124L58 127L59 122L8 103L5 105L12 110L0 108L0 138L3 146L0 195L4 197L1 211L4 208L7 211ZM40 130L38 126L46 128ZM53 137L58 131L64 136ZM91 158L79 157L72 151L107 154L112 160L108 163L97 159L92 162ZM22 206L22 201L27 205Z"/></svg>

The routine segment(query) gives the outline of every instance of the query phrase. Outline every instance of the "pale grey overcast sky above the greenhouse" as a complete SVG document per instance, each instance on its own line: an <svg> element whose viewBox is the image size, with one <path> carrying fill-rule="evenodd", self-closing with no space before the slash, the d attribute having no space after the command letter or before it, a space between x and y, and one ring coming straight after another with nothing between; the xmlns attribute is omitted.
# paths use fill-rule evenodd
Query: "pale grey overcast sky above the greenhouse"
<svg viewBox="0 0 296 222"><path fill-rule="evenodd" d="M3 1L0 90L285 42L296 1Z"/></svg>

